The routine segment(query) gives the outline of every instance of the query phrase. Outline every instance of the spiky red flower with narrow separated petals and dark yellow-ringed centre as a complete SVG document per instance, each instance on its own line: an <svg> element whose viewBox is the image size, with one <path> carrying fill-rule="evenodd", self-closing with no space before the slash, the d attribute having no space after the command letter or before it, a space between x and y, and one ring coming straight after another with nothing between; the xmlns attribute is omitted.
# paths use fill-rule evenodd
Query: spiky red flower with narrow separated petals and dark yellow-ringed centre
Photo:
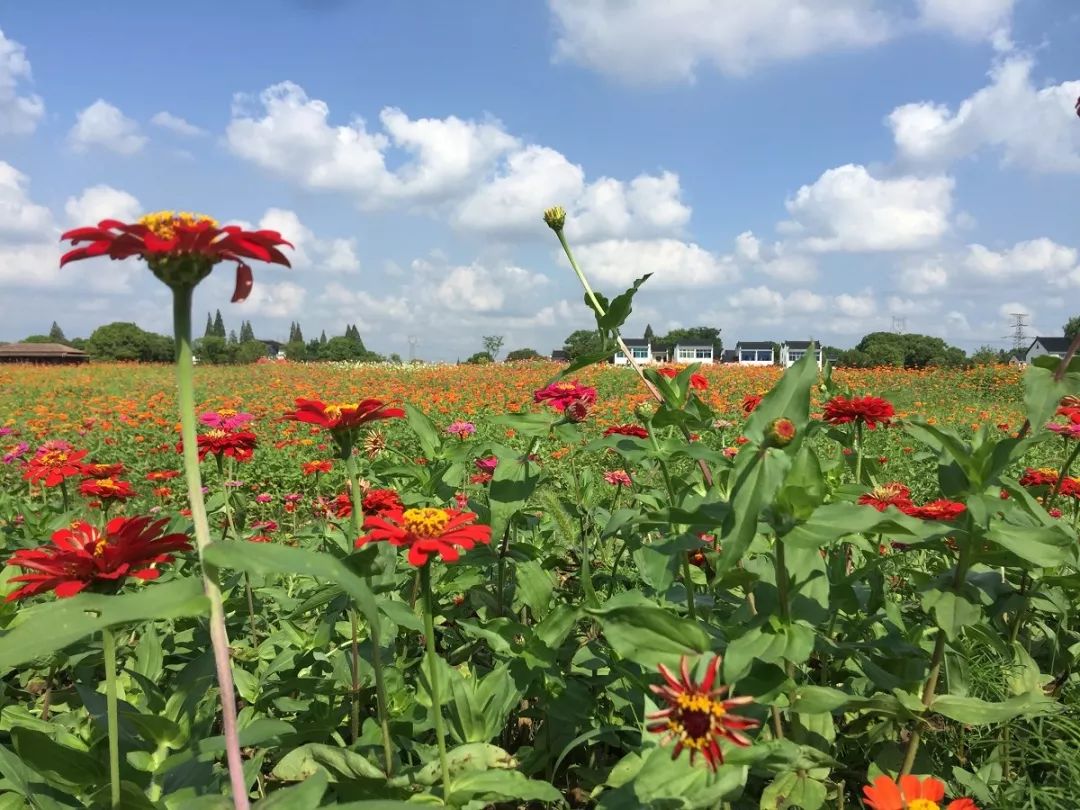
<svg viewBox="0 0 1080 810"><path fill-rule="evenodd" d="M701 754L714 771L724 765L724 752L718 742L720 739L745 747L752 740L742 732L761 725L752 717L731 714L732 708L744 706L753 699L742 697L724 700L728 687L713 686L719 669L720 657L716 656L708 662L705 678L699 685L690 677L686 656L679 662L678 678L660 664L660 674L667 683L664 686L653 684L649 689L667 706L648 715L648 719L653 723L647 727L649 731L666 734L676 741L672 759L678 758L683 748L689 748L691 762Z"/></svg>

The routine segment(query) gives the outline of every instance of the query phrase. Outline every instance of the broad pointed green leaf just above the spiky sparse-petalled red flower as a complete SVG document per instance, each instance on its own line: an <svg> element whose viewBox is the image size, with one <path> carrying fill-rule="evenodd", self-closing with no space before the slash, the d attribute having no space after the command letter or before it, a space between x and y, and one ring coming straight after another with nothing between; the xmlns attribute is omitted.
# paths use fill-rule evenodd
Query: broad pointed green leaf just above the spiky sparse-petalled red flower
<svg viewBox="0 0 1080 810"><path fill-rule="evenodd" d="M671 665L680 656L710 648L708 635L696 622L680 619L654 605L613 605L586 609L604 629L604 637L624 659L652 669Z"/></svg>

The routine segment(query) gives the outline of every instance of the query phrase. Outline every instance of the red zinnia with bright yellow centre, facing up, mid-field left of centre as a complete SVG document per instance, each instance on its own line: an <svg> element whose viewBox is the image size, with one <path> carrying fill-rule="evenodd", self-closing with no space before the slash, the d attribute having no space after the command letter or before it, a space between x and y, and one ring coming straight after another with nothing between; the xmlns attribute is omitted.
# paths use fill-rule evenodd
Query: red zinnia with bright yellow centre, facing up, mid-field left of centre
<svg viewBox="0 0 1080 810"><path fill-rule="evenodd" d="M476 515L457 509L406 509L364 518L369 532L356 540L360 548L376 540L408 548L408 562L417 567L428 564L432 554L446 563L456 563L458 548L472 549L491 542L491 527L474 523Z"/></svg>

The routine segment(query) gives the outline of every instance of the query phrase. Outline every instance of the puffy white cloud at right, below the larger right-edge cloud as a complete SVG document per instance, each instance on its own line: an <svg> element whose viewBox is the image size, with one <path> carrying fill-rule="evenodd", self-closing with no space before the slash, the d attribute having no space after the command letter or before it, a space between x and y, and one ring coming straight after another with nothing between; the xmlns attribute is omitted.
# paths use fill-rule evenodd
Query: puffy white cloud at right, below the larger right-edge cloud
<svg viewBox="0 0 1080 810"><path fill-rule="evenodd" d="M878 179L865 166L829 168L802 186L780 229L809 251L910 251L929 247L949 229L950 177Z"/></svg>

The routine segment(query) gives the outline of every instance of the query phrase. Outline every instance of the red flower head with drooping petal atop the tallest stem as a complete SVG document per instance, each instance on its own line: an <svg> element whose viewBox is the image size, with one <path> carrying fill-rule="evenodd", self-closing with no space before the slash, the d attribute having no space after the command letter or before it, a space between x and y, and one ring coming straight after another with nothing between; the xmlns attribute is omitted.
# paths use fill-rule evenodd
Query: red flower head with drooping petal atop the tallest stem
<svg viewBox="0 0 1080 810"><path fill-rule="evenodd" d="M244 259L289 267L278 246L293 246L278 231L245 231L234 225L219 228L210 217L172 211L148 214L130 225L103 219L96 227L67 231L60 240L72 245L90 243L64 254L60 267L95 256L110 259L138 256L146 260L154 275L170 285L197 284L217 262L235 261L233 302L244 300L252 292L252 268Z"/></svg>

